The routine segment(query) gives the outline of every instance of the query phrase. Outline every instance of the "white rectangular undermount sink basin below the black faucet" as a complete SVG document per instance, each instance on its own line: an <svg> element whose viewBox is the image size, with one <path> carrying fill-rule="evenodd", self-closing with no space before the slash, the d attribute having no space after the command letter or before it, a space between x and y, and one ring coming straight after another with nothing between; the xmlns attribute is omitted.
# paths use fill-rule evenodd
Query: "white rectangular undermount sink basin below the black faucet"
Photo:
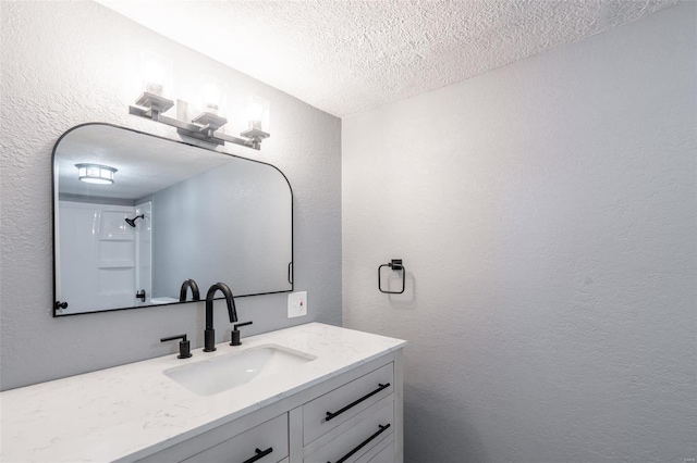
<svg viewBox="0 0 697 463"><path fill-rule="evenodd" d="M237 354L175 366L163 373L194 393L212 396L250 380L290 373L295 366L315 359L315 355L278 346L262 346Z"/></svg>

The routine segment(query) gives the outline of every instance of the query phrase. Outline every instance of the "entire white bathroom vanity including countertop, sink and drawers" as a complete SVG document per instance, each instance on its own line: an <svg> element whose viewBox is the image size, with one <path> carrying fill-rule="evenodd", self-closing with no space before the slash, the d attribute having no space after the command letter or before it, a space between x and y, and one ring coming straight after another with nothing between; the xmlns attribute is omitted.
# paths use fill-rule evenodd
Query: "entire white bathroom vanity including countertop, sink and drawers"
<svg viewBox="0 0 697 463"><path fill-rule="evenodd" d="M308 323L187 359L173 353L2 391L0 461L402 462L405 345ZM268 364L225 386L249 373L234 358ZM303 362L281 368L289 358ZM221 375L206 376L206 365ZM187 368L208 387L174 378Z"/></svg>

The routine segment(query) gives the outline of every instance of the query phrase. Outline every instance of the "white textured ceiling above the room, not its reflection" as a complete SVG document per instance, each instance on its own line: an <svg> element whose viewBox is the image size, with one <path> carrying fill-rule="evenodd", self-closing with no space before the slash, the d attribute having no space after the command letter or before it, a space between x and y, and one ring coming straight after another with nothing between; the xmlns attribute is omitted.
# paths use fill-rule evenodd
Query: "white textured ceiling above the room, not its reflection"
<svg viewBox="0 0 697 463"><path fill-rule="evenodd" d="M677 2L98 1L337 116L473 77Z"/></svg>

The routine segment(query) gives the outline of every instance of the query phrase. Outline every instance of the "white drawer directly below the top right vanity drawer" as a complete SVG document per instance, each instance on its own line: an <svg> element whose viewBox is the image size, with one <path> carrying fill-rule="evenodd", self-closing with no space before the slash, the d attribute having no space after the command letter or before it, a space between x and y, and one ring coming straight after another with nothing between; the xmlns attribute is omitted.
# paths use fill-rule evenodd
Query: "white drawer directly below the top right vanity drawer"
<svg viewBox="0 0 697 463"><path fill-rule="evenodd" d="M374 448L393 439L394 402L389 401L367 418L305 458L304 463L367 462ZM377 454L379 450L375 450ZM379 461L379 460L378 460Z"/></svg>

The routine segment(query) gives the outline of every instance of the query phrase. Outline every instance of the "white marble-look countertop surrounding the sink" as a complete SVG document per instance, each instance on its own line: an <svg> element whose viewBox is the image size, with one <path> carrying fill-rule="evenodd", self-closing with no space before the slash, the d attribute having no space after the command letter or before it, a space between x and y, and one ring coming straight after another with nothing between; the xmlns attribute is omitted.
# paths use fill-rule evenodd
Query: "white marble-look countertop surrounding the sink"
<svg viewBox="0 0 697 463"><path fill-rule="evenodd" d="M2 462L103 462L146 456L402 348L406 342L309 323L192 351L0 392ZM162 372L266 345L317 359L290 375L201 397ZM145 450L147 449L147 450ZM135 456L135 455L134 455Z"/></svg>

